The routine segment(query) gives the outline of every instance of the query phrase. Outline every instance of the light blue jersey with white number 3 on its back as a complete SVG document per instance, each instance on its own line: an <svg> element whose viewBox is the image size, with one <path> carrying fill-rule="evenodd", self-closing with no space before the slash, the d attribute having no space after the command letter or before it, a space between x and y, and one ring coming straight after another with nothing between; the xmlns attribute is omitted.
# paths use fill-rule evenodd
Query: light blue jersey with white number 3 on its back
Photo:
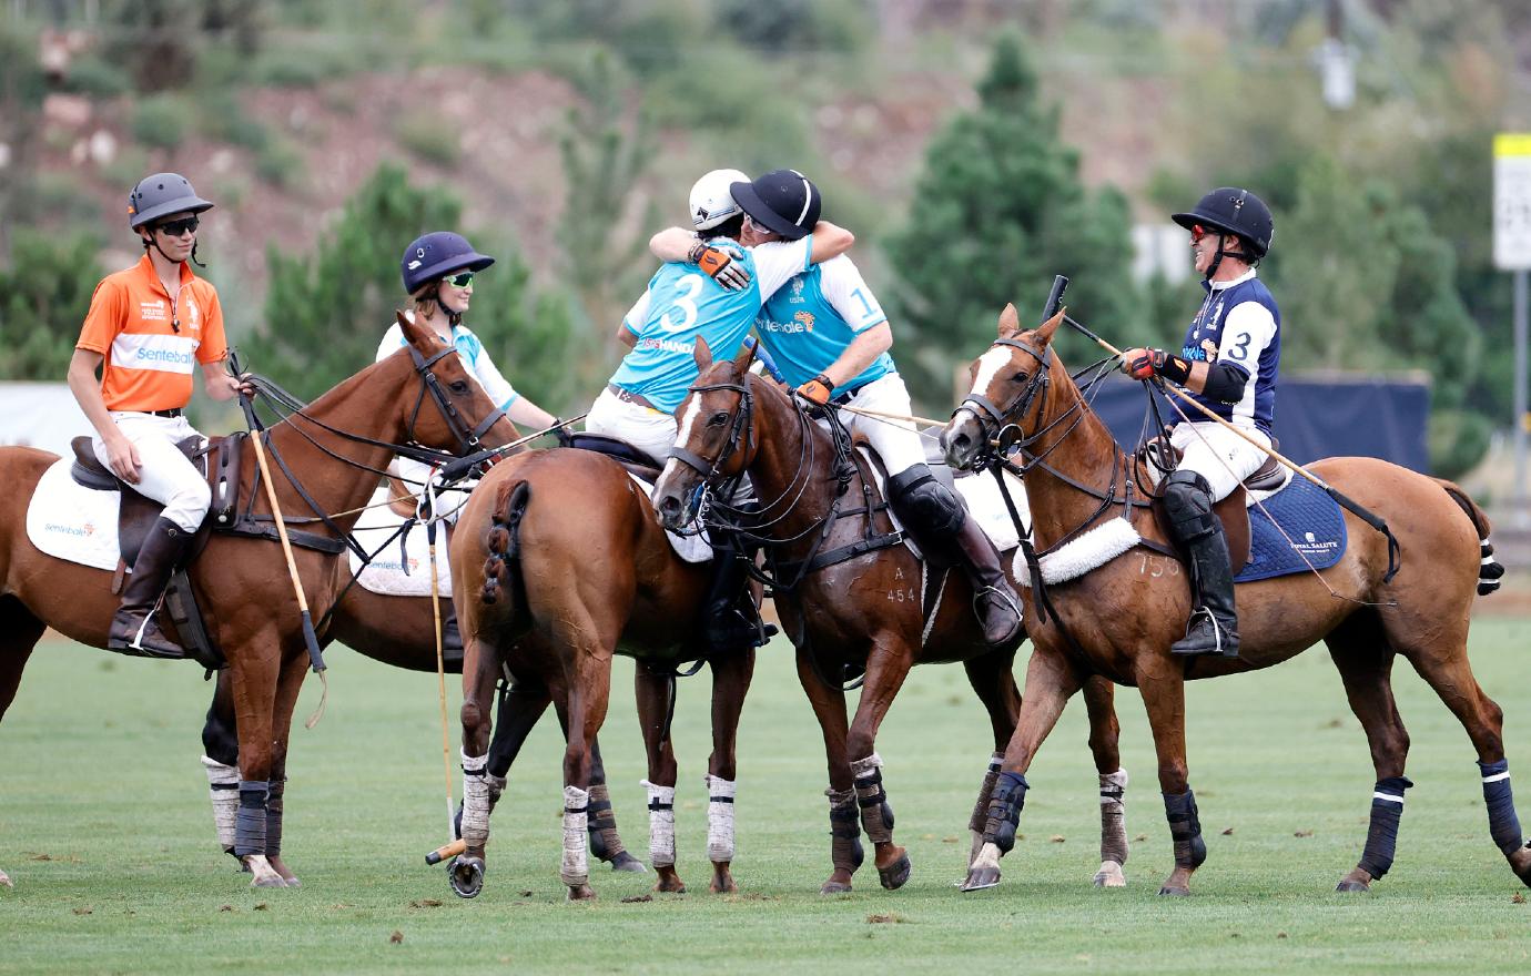
<svg viewBox="0 0 1531 976"><path fill-rule="evenodd" d="M684 262L669 262L655 272L648 291L623 318L623 326L637 340L612 373L612 386L637 393L657 410L674 413L697 381L697 340L707 340L715 359L733 356L761 304L808 268L813 236L743 251L750 285L736 292Z"/></svg>

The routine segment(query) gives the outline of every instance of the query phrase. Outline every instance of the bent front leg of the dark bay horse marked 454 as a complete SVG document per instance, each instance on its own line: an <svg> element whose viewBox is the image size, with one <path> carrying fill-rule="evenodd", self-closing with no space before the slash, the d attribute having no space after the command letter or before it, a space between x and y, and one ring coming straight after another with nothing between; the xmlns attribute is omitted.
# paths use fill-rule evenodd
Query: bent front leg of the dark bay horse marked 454
<svg viewBox="0 0 1531 976"><path fill-rule="evenodd" d="M867 656L867 679L862 684L856 717L851 719L850 736L845 739L845 754L851 762L851 779L856 783L856 803L860 806L862 829L873 843L877 880L888 890L903 887L912 866L909 854L893 843L893 805L882 785L882 757L877 756L877 730L893 707L894 696L909 676L912 653L902 644L882 638L873 639Z"/></svg>

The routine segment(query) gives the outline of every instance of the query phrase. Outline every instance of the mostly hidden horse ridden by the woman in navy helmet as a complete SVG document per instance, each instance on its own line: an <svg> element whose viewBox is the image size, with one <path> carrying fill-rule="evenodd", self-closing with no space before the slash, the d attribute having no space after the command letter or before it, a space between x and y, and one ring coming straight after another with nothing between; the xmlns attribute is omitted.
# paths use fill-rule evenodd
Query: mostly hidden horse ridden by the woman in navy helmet
<svg viewBox="0 0 1531 976"><path fill-rule="evenodd" d="M351 583L351 571L338 561L341 574L337 592L344 590L340 603L331 612L329 627L322 639L340 641L346 647L409 672L436 672L436 623L430 597L395 597L375 594L360 583ZM442 594L441 610L450 612L452 595ZM462 673L461 650L444 658L446 672ZM553 688L542 682L511 684L499 696L499 722L495 725L495 740L490 743L488 779L490 806L499 800L505 776L521 753L527 736L553 704ZM562 696L562 690L559 691ZM234 728L234 687L230 672L217 673L213 704L207 710L202 727L204 766L208 771L213 820L217 825L219 843L228 854L234 852L234 812L239 806L239 739ZM611 864L612 870L643 870L643 863L632 857L617 832L617 818L606 791L606 771L600 762L600 747L591 742L589 786L589 846L597 858ZM271 808L282 809L282 783L271 785ZM276 820L280 823L280 817ZM282 861L280 832L273 835L266 823L266 858L277 874L291 878ZM291 881L289 881L291 883Z"/></svg>

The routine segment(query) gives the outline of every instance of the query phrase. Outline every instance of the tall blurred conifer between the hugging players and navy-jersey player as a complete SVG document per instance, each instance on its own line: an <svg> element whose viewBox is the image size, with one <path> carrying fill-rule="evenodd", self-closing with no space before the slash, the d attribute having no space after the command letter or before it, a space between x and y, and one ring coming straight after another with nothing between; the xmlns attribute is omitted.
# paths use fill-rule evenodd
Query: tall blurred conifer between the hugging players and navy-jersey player
<svg viewBox="0 0 1531 976"><path fill-rule="evenodd" d="M1098 330L1119 330L1134 306L1127 200L1084 190L1079 153L1059 142L1058 109L1017 37L995 44L978 98L931 141L908 225L888 245L902 283L890 312L908 337L899 369L932 404L949 402L954 366L992 341L1004 303L1035 320L1053 274L1073 280L1069 304ZM1079 337L1061 343L1075 366L1096 358Z"/></svg>

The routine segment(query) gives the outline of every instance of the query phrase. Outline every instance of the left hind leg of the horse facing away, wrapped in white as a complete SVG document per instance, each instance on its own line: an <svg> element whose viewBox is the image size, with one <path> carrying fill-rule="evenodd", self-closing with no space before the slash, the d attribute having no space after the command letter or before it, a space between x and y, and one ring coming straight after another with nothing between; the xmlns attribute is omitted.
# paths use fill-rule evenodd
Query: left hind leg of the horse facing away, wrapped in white
<svg viewBox="0 0 1531 976"><path fill-rule="evenodd" d="M464 851L447 864L447 884L458 898L476 898L484 890L484 847L488 844L488 812L493 788L488 748L493 717L490 702L499 679L496 647L476 636L472 623L462 626L462 817L458 834ZM473 635L473 636L470 636Z"/></svg>

